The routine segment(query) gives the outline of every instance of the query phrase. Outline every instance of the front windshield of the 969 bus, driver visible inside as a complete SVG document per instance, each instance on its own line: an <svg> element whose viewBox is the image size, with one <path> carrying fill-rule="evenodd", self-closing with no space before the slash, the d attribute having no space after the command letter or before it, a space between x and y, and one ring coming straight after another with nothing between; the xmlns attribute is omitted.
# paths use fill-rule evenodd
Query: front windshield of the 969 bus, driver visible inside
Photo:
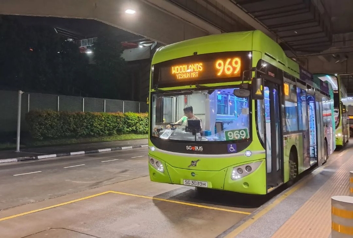
<svg viewBox="0 0 353 238"><path fill-rule="evenodd" d="M234 88L152 96L152 136L184 141L250 138L249 98Z"/></svg>

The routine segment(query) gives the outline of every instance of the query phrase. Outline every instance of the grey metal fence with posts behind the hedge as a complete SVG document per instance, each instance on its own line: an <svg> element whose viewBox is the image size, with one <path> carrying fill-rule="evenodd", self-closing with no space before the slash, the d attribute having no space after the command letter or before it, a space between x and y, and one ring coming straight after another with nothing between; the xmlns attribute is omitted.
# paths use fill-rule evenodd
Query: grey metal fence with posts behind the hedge
<svg viewBox="0 0 353 238"><path fill-rule="evenodd" d="M17 129L17 91L0 90L0 132ZM85 98L53 94L24 93L21 100L21 131L26 131L25 115L32 110L67 112L147 112L145 102Z"/></svg>

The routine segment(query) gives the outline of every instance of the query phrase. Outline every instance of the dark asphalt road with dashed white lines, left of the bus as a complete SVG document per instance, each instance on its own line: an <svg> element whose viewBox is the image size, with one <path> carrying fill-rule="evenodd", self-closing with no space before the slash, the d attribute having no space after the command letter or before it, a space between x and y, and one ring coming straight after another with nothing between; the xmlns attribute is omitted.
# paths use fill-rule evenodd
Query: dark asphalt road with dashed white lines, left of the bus
<svg viewBox="0 0 353 238"><path fill-rule="evenodd" d="M0 164L0 210L148 176L147 148Z"/></svg>

